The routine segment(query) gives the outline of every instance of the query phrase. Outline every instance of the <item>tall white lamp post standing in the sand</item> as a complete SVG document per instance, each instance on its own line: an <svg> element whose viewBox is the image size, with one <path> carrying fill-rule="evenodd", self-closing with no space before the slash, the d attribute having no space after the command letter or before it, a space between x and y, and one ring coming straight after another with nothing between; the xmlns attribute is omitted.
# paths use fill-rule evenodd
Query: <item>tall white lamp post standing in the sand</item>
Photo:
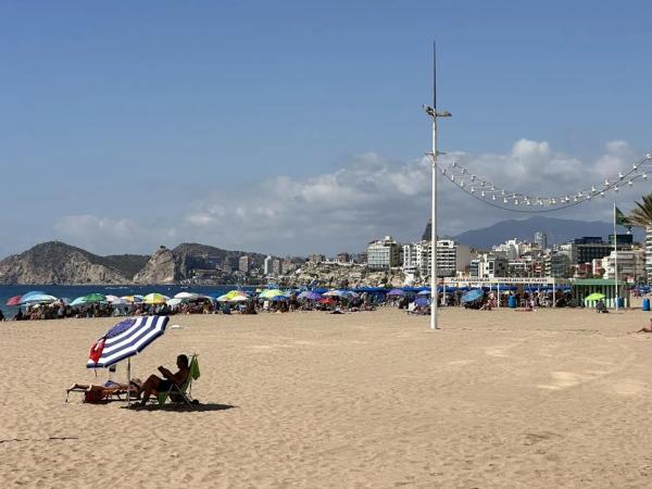
<svg viewBox="0 0 652 489"><path fill-rule="evenodd" d="M450 117L448 111L437 111L437 54L432 45L432 106L424 105L426 114L432 117L432 209L430 215L430 329L439 329L437 325L437 117Z"/></svg>

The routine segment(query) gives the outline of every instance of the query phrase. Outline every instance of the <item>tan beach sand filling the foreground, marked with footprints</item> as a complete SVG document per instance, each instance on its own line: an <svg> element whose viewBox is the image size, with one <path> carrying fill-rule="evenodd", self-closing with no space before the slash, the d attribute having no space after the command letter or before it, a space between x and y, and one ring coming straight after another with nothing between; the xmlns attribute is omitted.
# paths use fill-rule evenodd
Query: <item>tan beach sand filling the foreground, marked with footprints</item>
<svg viewBox="0 0 652 489"><path fill-rule="evenodd" d="M202 402L65 388L115 319L0 323L2 487L651 487L650 313L173 316L133 361L197 352ZM121 365L114 375L123 379Z"/></svg>

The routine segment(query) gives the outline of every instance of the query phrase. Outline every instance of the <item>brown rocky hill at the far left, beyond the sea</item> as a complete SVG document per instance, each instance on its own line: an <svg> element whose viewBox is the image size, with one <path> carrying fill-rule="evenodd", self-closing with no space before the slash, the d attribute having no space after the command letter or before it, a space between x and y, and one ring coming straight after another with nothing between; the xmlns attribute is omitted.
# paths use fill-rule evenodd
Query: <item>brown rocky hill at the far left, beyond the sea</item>
<svg viewBox="0 0 652 489"><path fill-rule="evenodd" d="M129 284L127 262L134 259L106 260L61 241L49 241L0 261L0 284Z"/></svg>

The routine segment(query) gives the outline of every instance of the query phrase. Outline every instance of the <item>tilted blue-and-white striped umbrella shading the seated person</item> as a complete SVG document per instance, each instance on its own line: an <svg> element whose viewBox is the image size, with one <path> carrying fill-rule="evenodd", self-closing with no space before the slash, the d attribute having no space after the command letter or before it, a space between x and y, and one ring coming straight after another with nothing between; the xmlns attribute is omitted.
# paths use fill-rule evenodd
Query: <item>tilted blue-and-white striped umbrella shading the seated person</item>
<svg viewBox="0 0 652 489"><path fill-rule="evenodd" d="M105 368L140 353L165 333L167 321L167 316L129 317L116 324L100 339L104 346L97 363L89 359L86 367Z"/></svg>

